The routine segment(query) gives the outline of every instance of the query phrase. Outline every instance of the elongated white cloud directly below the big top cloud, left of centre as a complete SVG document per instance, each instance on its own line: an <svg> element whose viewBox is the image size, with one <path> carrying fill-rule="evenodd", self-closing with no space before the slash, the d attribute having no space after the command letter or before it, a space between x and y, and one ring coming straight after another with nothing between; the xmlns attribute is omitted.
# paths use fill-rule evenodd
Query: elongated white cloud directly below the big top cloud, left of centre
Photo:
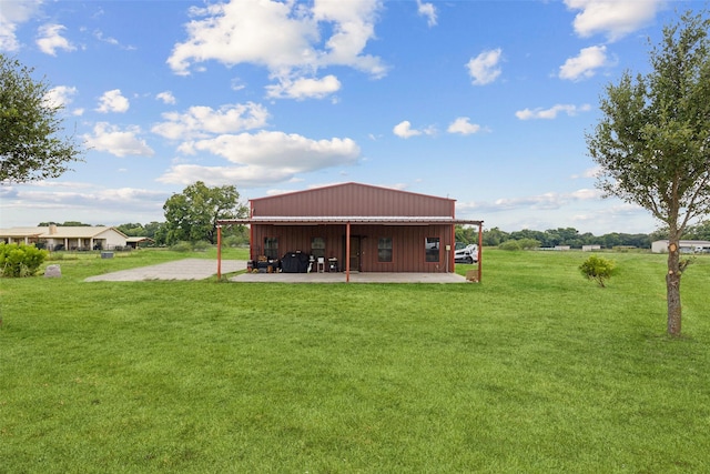
<svg viewBox="0 0 710 474"><path fill-rule="evenodd" d="M268 111L263 105L247 102L222 105L219 110L195 105L184 113L169 112L162 117L165 121L154 125L153 133L171 140L189 140L262 128Z"/></svg>

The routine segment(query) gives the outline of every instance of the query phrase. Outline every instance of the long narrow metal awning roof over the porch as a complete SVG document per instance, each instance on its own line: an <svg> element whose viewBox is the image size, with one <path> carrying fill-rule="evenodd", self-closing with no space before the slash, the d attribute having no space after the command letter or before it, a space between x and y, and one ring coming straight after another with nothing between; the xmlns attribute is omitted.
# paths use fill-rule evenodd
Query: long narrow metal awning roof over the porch
<svg viewBox="0 0 710 474"><path fill-rule="evenodd" d="M250 219L222 219L217 225L325 225L325 224L381 224L381 225L433 225L460 224L481 225L484 221L454 219L447 216L383 216L383 215L352 215L352 216L255 216Z"/></svg>

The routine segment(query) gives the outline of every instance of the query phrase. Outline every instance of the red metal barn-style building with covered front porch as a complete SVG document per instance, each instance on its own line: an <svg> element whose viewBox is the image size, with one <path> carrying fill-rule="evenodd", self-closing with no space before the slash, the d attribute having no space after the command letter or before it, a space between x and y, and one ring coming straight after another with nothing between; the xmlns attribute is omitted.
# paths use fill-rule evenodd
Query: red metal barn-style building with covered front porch
<svg viewBox="0 0 710 474"><path fill-rule="evenodd" d="M483 246L483 221L456 219L455 203L344 183L253 199L248 219L217 224L247 224L251 260L270 271L450 273L456 224L477 225Z"/></svg>

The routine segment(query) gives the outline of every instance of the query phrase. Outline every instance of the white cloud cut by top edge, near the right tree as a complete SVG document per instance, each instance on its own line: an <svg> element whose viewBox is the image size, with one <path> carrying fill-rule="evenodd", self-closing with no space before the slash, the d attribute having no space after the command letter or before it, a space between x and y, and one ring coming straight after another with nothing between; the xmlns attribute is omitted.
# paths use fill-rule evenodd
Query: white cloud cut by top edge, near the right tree
<svg viewBox="0 0 710 474"><path fill-rule="evenodd" d="M616 41L650 24L666 0L565 0L575 17L575 31L582 38L604 33Z"/></svg>

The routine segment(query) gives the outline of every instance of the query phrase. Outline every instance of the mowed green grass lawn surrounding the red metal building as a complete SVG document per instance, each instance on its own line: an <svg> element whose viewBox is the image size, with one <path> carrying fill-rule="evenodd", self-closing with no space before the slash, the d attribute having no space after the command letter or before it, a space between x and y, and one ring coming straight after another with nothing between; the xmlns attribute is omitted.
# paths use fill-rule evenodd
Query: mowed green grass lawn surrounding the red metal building
<svg viewBox="0 0 710 474"><path fill-rule="evenodd" d="M710 470L708 256L677 340L663 255L604 254L606 289L496 250L480 284L83 282L180 256L0 281L0 472Z"/></svg>

